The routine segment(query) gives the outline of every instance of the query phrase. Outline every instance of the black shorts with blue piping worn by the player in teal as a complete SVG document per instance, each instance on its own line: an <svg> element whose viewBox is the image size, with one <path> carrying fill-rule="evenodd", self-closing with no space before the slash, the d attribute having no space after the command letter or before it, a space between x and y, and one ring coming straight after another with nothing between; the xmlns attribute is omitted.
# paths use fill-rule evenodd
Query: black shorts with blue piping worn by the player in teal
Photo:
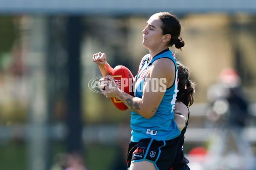
<svg viewBox="0 0 256 170"><path fill-rule="evenodd" d="M126 160L128 169L132 162L145 160L154 163L157 170L170 170L179 142L178 137L168 141L151 138L141 139L139 142L130 141Z"/></svg>

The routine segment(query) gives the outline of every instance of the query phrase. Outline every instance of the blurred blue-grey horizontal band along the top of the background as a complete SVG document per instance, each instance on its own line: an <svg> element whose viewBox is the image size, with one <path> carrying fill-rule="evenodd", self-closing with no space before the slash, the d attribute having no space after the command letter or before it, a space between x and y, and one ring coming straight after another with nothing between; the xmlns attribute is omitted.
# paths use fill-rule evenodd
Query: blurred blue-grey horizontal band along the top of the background
<svg viewBox="0 0 256 170"><path fill-rule="evenodd" d="M255 0L0 0L0 14L256 13Z"/></svg>

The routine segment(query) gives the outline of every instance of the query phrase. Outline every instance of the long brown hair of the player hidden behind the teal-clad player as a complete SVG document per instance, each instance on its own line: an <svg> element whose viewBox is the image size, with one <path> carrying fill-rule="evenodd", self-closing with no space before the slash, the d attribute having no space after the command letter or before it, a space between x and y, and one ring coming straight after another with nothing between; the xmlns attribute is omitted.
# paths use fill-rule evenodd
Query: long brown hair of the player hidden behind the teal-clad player
<svg viewBox="0 0 256 170"><path fill-rule="evenodd" d="M189 79L189 69L177 62L178 68L178 95L183 100L186 106L191 106L194 103L195 82Z"/></svg>

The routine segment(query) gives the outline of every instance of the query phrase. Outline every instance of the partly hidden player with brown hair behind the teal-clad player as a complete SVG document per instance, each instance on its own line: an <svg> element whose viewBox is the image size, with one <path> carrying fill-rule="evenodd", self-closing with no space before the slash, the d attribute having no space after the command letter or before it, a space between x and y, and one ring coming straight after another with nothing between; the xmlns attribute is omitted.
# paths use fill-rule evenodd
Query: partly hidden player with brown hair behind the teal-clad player
<svg viewBox="0 0 256 170"><path fill-rule="evenodd" d="M174 120L179 127L180 144L177 150L177 155L172 163L170 170L190 170L189 160L185 158L183 153L183 144L185 139L186 128L189 124L189 108L193 102L195 94L195 82L189 79L189 69L177 62L178 68L178 90L174 110Z"/></svg>

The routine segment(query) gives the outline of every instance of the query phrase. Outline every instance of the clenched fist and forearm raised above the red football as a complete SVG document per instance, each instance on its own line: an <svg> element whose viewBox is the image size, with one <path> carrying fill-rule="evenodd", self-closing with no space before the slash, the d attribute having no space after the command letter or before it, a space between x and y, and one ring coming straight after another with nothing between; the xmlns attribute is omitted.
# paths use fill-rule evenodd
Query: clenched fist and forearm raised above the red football
<svg viewBox="0 0 256 170"><path fill-rule="evenodd" d="M99 52L93 54L93 62L99 65L99 70L102 73L103 77L106 77L107 75L112 73L113 68L108 64L105 53Z"/></svg>

